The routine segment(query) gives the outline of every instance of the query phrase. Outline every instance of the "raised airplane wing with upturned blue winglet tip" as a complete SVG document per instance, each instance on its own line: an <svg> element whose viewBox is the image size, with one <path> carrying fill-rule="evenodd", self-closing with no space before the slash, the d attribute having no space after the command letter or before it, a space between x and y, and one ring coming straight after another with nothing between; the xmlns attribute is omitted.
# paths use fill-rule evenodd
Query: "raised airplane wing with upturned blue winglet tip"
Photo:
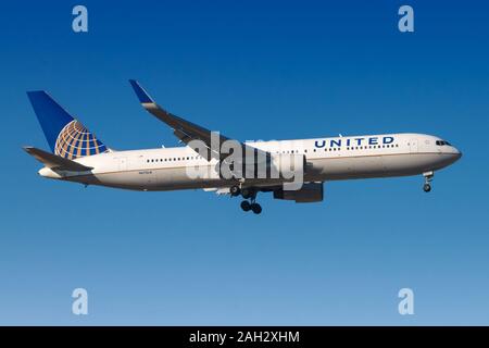
<svg viewBox="0 0 489 348"><path fill-rule="evenodd" d="M210 161L212 158L217 159L220 161L224 160L226 157L228 157L228 153L221 153L220 148L221 145L224 141L227 140L234 140L230 139L224 135L218 135L216 137L216 133L213 133L202 126L199 126L195 123L191 123L187 120L184 120L177 115L174 115L163 108L161 108L156 102L148 95L148 92L139 85L138 82L134 79L129 79L130 85L134 88L134 91L136 92L136 96L139 98L139 101L141 102L141 105L151 114L166 123L170 127L173 128L173 133L175 136L180 139L180 141L187 144L189 147L191 147L193 150L197 151L195 145L191 144L192 140L201 140L205 145L208 149L208 153L200 153L202 157L204 157L208 161ZM218 139L218 144L213 144L213 135L214 135L214 141ZM246 159L246 156L253 157L256 156L256 153L260 152L262 157L259 158L267 158L268 152L255 149L253 147L250 147L243 142L237 141L241 146L242 154L243 154L243 161Z"/></svg>

